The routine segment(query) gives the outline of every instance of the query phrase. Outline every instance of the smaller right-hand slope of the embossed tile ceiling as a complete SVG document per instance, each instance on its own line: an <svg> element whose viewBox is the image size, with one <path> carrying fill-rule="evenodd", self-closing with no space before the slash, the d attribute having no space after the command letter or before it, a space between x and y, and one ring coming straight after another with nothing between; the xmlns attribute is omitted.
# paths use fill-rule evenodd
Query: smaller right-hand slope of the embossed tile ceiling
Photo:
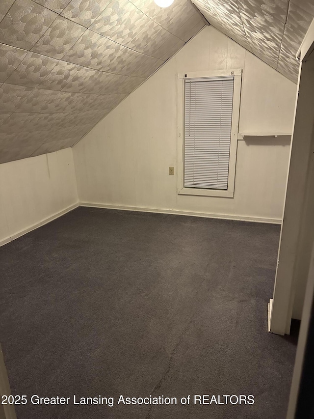
<svg viewBox="0 0 314 419"><path fill-rule="evenodd" d="M209 23L294 83L314 0L192 0Z"/></svg>

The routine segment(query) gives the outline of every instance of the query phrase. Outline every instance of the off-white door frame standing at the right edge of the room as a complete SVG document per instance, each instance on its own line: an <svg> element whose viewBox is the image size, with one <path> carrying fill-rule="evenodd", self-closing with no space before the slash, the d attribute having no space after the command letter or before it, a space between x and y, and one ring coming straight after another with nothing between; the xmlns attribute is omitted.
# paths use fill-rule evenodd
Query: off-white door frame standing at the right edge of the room
<svg viewBox="0 0 314 419"><path fill-rule="evenodd" d="M296 266L301 258L302 240L304 239L300 231L309 205L308 188L311 169L313 169L311 156L314 146L314 20L305 35L297 57L300 59L300 69L286 198L274 294L269 305L269 331L278 335L290 333L294 295L297 287ZM310 257L308 259L309 269Z"/></svg>

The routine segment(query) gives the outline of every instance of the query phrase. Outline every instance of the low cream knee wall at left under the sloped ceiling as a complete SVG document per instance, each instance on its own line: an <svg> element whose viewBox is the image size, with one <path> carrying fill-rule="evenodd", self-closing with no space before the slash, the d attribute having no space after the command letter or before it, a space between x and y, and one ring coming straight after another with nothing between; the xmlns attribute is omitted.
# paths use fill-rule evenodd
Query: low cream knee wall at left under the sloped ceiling
<svg viewBox="0 0 314 419"><path fill-rule="evenodd" d="M71 148L0 164L0 245L77 205Z"/></svg>

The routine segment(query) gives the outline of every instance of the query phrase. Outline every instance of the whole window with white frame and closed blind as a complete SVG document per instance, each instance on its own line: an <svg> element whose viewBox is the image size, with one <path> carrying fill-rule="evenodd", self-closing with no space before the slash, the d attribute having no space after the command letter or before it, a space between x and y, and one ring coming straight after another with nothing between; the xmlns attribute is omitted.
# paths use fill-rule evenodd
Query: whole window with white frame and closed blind
<svg viewBox="0 0 314 419"><path fill-rule="evenodd" d="M234 196L242 70L178 76L178 193Z"/></svg>

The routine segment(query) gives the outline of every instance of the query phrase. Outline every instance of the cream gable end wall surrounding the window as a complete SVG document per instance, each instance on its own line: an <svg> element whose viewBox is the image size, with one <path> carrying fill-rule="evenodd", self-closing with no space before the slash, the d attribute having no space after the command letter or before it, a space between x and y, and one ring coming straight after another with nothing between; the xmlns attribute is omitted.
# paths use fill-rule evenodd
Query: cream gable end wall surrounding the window
<svg viewBox="0 0 314 419"><path fill-rule="evenodd" d="M296 85L207 27L74 147L80 202L281 221L287 137L238 141L234 198L178 196L168 175L177 166L177 73L226 68L243 69L239 132L291 132Z"/></svg>

